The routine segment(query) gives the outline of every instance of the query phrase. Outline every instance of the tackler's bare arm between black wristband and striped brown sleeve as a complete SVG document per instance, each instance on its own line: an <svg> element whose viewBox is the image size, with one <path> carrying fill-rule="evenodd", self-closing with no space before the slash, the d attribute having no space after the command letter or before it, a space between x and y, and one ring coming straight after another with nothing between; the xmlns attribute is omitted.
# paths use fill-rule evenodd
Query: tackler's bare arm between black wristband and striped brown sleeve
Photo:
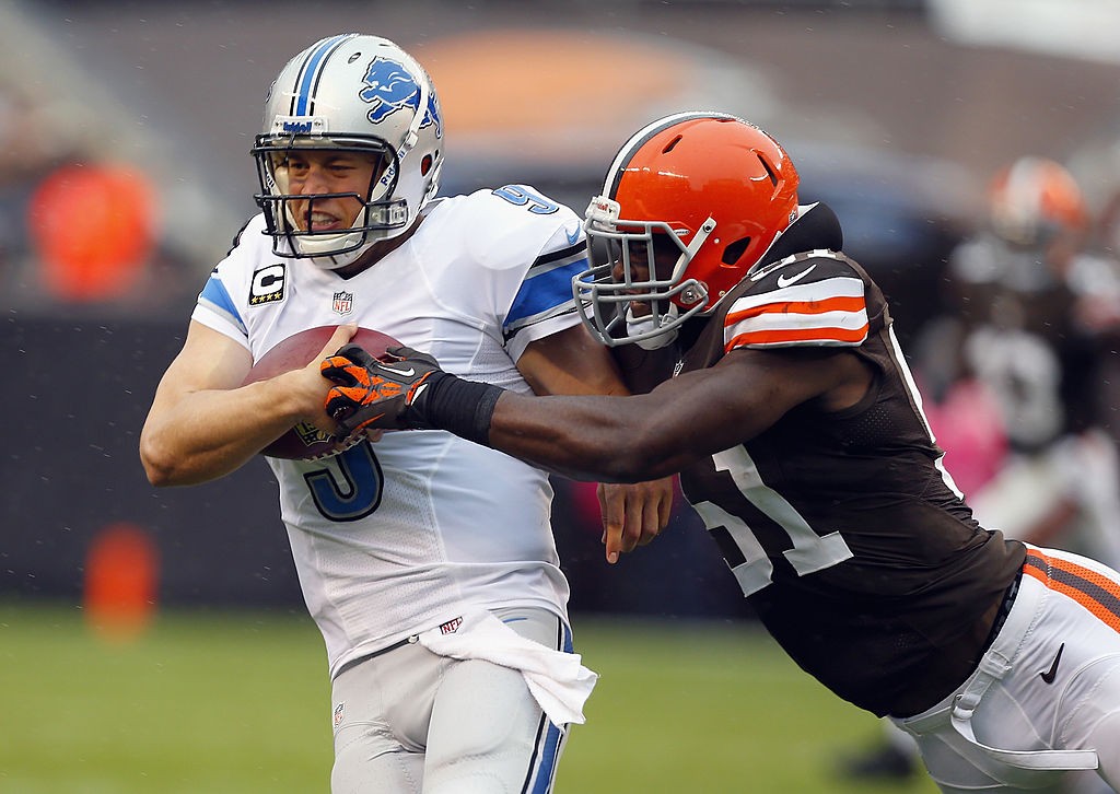
<svg viewBox="0 0 1120 794"><path fill-rule="evenodd" d="M734 351L648 394L498 399L489 445L576 479L664 477L741 443L790 409L855 404L871 373L849 352Z"/></svg>

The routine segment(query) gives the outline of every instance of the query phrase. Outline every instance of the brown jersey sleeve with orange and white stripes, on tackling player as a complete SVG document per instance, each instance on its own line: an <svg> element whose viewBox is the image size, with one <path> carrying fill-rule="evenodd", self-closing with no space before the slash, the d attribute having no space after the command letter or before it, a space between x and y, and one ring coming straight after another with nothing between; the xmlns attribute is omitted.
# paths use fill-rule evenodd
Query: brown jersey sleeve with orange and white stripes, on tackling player
<svg viewBox="0 0 1120 794"><path fill-rule="evenodd" d="M724 320L724 351L739 347L857 347L867 339L867 284L828 252L756 273Z"/></svg>

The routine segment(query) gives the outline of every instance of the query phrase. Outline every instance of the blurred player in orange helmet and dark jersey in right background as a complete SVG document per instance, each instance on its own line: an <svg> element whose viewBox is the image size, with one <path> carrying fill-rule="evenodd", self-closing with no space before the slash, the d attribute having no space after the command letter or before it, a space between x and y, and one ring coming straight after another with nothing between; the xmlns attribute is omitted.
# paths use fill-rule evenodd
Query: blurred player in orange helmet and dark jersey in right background
<svg viewBox="0 0 1120 794"><path fill-rule="evenodd" d="M988 189L983 228L949 262L949 310L916 346L945 465L981 524L1120 566L1109 427L1120 268L1058 162L1024 157ZM855 777L917 769L909 738L852 758ZM1092 785L1092 784L1090 784Z"/></svg>

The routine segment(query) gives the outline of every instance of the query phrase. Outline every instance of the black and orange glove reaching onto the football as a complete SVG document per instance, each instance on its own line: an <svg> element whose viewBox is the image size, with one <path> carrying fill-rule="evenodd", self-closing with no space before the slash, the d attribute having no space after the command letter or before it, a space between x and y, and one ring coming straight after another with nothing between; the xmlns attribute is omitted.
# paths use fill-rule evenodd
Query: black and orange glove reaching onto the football
<svg viewBox="0 0 1120 794"><path fill-rule="evenodd" d="M411 347L390 347L395 361L380 361L358 345L344 345L319 364L337 384L324 408L346 438L367 428L420 430L433 427L424 415L428 393L440 379L454 377L439 363Z"/></svg>

